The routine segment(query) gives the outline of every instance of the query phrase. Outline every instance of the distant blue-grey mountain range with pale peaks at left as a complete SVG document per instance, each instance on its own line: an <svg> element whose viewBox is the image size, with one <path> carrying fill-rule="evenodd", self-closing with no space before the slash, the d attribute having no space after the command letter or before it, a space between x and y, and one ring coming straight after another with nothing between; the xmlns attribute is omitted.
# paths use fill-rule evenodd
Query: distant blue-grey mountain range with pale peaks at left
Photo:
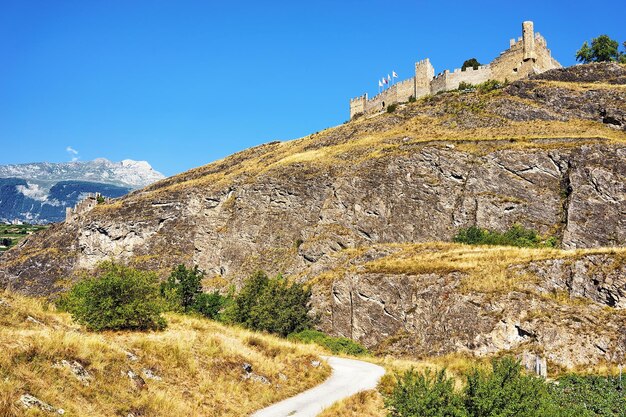
<svg viewBox="0 0 626 417"><path fill-rule="evenodd" d="M89 193L120 197L164 178L145 161L0 165L0 222L43 224L65 219Z"/></svg>

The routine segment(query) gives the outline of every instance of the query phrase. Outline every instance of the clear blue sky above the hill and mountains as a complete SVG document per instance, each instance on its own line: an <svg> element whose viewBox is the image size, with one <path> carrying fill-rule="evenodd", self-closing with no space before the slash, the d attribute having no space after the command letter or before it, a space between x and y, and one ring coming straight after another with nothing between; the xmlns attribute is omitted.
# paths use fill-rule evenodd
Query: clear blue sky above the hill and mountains
<svg viewBox="0 0 626 417"><path fill-rule="evenodd" d="M533 20L563 65L626 40L626 2L0 0L0 164L147 160L166 175L344 122L430 57L482 63ZM70 147L77 153L68 150Z"/></svg>

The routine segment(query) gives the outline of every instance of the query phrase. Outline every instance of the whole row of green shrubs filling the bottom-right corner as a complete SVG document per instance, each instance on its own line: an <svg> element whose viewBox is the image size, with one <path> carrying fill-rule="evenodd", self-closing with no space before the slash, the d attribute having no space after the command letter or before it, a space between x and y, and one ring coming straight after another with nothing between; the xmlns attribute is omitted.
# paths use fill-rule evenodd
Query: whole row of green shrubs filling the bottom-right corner
<svg viewBox="0 0 626 417"><path fill-rule="evenodd" d="M566 375L549 382L525 375L508 357L464 376L461 392L444 371L396 377L395 387L381 391L389 416L626 417L626 393L616 377Z"/></svg>

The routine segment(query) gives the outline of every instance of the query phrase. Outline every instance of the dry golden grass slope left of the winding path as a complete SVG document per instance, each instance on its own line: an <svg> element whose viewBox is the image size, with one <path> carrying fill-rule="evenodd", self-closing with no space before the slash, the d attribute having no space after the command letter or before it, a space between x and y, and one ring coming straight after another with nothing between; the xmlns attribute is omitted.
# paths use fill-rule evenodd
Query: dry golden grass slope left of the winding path
<svg viewBox="0 0 626 417"><path fill-rule="evenodd" d="M43 301L0 295L0 415L37 415L16 404L30 393L68 416L242 416L317 385L329 375L313 368L314 345L167 315L162 332L89 333ZM30 321L33 317L42 324ZM125 352L138 356L127 358ZM61 361L76 360L93 376L86 386ZM271 385L242 380L244 362ZM150 369L136 391L122 373ZM287 377L280 376L283 374Z"/></svg>

